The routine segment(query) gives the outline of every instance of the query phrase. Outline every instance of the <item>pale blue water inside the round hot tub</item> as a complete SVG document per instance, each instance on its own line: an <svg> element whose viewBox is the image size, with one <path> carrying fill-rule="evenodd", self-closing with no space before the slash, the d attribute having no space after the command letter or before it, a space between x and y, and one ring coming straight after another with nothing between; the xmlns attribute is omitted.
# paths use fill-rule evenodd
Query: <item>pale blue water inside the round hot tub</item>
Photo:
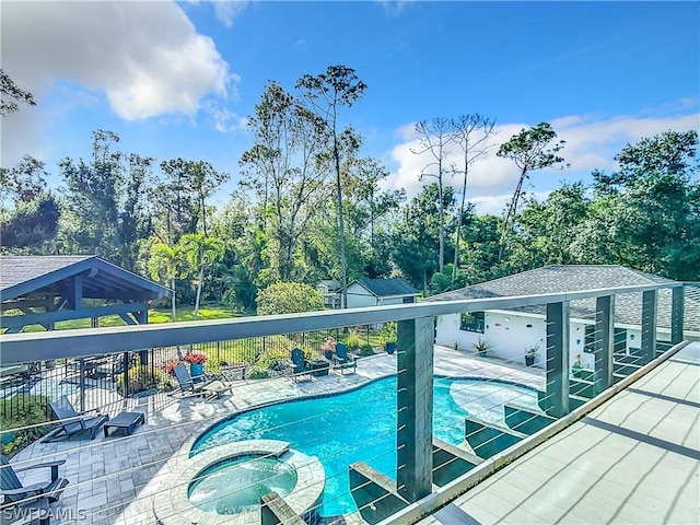
<svg viewBox="0 0 700 525"><path fill-rule="evenodd" d="M238 457L206 469L189 487L189 501L205 512L241 514L256 510L260 498L282 498L296 485L296 471L279 459Z"/></svg>

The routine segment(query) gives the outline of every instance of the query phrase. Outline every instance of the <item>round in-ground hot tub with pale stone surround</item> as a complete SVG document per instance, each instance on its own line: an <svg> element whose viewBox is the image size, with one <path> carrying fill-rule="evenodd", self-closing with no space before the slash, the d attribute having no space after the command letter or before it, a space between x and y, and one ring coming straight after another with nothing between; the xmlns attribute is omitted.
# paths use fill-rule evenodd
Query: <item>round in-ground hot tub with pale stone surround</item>
<svg viewBox="0 0 700 525"><path fill-rule="evenodd" d="M324 468L317 458L276 440L248 440L215 446L182 460L154 499L163 525L260 523L260 498L277 492L303 515L320 504Z"/></svg>

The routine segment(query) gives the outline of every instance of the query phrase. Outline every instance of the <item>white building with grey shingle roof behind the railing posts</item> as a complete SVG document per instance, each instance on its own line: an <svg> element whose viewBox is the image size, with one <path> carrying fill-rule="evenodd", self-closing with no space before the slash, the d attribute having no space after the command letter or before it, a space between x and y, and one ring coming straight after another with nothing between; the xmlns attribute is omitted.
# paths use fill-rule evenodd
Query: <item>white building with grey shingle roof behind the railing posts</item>
<svg viewBox="0 0 700 525"><path fill-rule="evenodd" d="M557 265L524 271L493 281L454 290L427 301L454 301L512 295L536 295L564 291L594 290L655 282L672 282L652 273L614 265ZM658 293L656 339L670 340L670 290ZM629 353L641 346L642 294L627 293L615 298L615 350ZM586 369L593 369L595 300L570 304L570 362L580 357ZM489 354L524 362L525 351L538 347L535 365L544 368L546 358L546 306L526 306L512 311L465 312L438 318L435 342L472 350L480 339L491 348ZM686 294L686 338L700 339L700 300Z"/></svg>

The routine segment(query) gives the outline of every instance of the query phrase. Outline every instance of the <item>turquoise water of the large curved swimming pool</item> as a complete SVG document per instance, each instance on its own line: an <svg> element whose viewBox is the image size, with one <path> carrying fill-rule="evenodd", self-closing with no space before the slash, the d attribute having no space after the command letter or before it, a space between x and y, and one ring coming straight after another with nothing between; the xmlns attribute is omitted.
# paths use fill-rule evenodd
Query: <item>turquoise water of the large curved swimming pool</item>
<svg viewBox="0 0 700 525"><path fill-rule="evenodd" d="M500 382L435 377L433 433L453 445L464 442L466 416L504 424L503 404L537 407L537 393ZM202 434L192 454L243 440L281 440L316 456L326 471L322 516L357 511L348 466L364 462L396 479L396 376L317 399L252 410Z"/></svg>

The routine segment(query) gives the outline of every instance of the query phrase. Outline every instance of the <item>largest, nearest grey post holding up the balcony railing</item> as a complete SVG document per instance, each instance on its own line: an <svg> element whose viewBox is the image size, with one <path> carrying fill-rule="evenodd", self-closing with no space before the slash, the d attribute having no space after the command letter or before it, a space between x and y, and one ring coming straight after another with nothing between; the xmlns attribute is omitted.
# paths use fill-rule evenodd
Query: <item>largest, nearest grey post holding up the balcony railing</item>
<svg viewBox="0 0 700 525"><path fill-rule="evenodd" d="M432 317L398 322L396 480L409 502L432 491L433 339Z"/></svg>

